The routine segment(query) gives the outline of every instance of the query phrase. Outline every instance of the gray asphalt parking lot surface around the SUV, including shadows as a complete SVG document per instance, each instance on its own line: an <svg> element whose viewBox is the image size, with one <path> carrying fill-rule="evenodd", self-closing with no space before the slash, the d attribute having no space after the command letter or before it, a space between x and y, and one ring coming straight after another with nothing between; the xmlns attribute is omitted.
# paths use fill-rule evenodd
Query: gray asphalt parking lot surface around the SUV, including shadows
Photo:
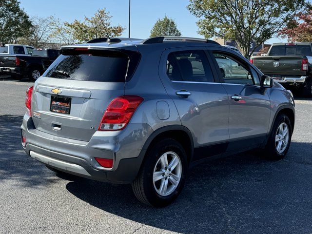
<svg viewBox="0 0 312 234"><path fill-rule="evenodd" d="M130 185L60 178L20 144L25 91L0 78L0 233L312 233L312 99L296 98L288 155L240 154L194 168L178 199L150 208Z"/></svg>

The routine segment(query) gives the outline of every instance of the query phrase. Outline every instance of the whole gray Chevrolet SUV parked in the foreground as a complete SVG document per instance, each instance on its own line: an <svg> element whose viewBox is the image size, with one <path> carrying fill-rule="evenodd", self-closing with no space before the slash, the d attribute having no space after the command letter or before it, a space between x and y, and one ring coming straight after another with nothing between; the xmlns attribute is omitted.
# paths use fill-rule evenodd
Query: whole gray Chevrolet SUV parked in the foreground
<svg viewBox="0 0 312 234"><path fill-rule="evenodd" d="M284 157L292 94L206 39L94 39L64 46L26 93L21 141L57 173L132 183L160 207L204 159L255 148Z"/></svg>

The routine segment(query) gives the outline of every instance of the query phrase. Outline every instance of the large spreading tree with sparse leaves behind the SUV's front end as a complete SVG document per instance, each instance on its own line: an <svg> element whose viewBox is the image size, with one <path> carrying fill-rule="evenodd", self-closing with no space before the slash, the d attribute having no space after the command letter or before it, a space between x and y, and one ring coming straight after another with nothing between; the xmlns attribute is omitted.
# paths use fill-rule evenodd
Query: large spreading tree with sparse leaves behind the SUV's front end
<svg viewBox="0 0 312 234"><path fill-rule="evenodd" d="M188 9L200 18L199 34L233 39L249 57L257 46L277 36L305 5L305 0L190 0Z"/></svg>

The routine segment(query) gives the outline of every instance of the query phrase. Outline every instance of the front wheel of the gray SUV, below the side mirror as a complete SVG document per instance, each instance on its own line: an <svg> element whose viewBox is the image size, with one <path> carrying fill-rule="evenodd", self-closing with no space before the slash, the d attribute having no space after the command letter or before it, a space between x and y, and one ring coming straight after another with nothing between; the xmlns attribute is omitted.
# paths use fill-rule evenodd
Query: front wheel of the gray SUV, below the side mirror
<svg viewBox="0 0 312 234"><path fill-rule="evenodd" d="M273 129L262 155L270 160L279 160L286 156L292 140L292 123L282 114L275 119Z"/></svg>

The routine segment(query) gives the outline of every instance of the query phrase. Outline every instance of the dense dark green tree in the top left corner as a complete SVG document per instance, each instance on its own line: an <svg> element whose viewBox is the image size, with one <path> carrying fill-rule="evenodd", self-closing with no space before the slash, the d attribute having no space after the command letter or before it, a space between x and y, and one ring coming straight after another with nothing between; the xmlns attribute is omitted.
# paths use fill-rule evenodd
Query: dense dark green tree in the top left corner
<svg viewBox="0 0 312 234"><path fill-rule="evenodd" d="M18 0L0 0L0 42L16 43L29 35L32 24Z"/></svg>

